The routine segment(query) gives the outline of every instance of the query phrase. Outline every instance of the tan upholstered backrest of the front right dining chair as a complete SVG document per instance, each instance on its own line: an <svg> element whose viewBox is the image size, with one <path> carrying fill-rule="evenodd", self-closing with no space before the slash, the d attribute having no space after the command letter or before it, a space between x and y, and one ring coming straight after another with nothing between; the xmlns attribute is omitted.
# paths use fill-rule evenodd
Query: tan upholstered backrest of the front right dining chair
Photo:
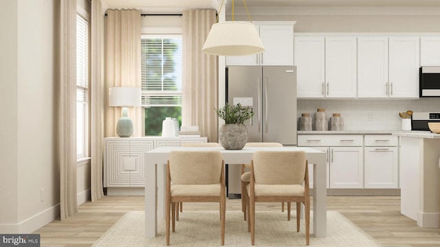
<svg viewBox="0 0 440 247"><path fill-rule="evenodd" d="M300 185L307 158L303 151L257 151L252 156L255 183Z"/></svg>

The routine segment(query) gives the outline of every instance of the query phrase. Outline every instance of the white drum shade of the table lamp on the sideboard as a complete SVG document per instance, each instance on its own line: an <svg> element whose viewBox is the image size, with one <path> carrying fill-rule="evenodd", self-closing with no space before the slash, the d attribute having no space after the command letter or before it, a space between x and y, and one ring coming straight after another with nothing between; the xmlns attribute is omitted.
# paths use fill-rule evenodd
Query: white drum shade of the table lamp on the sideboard
<svg viewBox="0 0 440 247"><path fill-rule="evenodd" d="M140 106L142 92L140 88L109 88L109 106Z"/></svg>

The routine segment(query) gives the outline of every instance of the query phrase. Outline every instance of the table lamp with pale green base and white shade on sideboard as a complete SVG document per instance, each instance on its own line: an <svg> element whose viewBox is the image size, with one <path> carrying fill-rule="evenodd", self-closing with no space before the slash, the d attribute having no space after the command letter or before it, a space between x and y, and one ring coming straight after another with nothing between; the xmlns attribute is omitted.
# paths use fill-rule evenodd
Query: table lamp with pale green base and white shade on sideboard
<svg viewBox="0 0 440 247"><path fill-rule="evenodd" d="M122 106L122 117L116 125L119 137L131 137L133 134L133 121L129 117L127 106L141 106L141 89L131 87L109 88L109 106Z"/></svg>

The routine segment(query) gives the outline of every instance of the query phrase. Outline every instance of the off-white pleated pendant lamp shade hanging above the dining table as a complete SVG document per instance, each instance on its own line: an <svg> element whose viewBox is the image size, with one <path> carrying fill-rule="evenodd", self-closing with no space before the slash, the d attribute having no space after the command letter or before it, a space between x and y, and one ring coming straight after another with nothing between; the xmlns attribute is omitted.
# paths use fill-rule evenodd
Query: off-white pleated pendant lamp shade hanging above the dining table
<svg viewBox="0 0 440 247"><path fill-rule="evenodd" d="M264 46L254 24L224 21L212 25L202 51L219 56L244 56L260 54Z"/></svg>

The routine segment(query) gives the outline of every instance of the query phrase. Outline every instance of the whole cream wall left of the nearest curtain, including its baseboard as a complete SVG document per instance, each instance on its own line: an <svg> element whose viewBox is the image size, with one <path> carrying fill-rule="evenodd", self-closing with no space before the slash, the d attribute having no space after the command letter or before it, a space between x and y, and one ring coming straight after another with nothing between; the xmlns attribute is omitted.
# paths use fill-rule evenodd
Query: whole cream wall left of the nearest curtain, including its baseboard
<svg viewBox="0 0 440 247"><path fill-rule="evenodd" d="M8 64L10 75L2 80L8 82L9 89L1 90L0 98L8 99L2 103L12 111L5 115L8 129L1 128L2 233L30 233L59 216L57 10L56 0L1 2L0 13L9 17L2 22L1 32L12 34L8 35L10 44L1 44L8 56L2 52L0 57L0 64ZM3 25L10 32L3 30ZM0 42L6 41L2 38ZM4 192L5 196L15 195L3 197Z"/></svg>

